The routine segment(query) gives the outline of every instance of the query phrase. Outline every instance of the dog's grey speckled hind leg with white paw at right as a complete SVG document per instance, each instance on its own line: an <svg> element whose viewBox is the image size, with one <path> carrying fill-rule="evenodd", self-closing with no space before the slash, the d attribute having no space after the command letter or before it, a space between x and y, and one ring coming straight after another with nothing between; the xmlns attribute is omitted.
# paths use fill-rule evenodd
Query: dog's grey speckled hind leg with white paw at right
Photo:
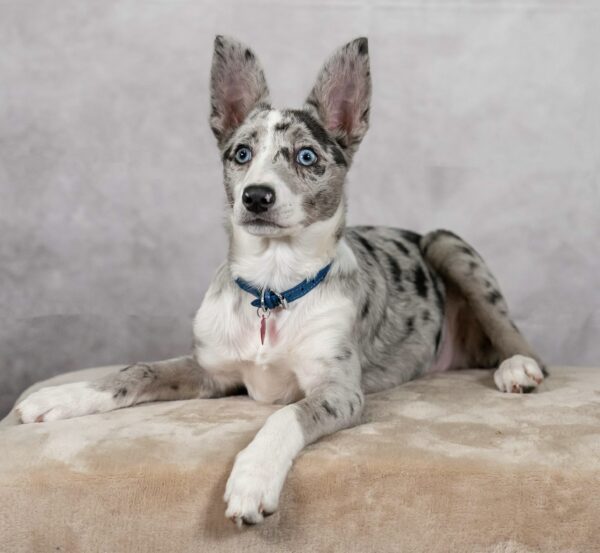
<svg viewBox="0 0 600 553"><path fill-rule="evenodd" d="M481 256L446 230L421 239L430 267L442 277L453 302L455 339L471 367L498 367L503 392L530 392L547 376L539 356L510 319L500 287Z"/></svg>

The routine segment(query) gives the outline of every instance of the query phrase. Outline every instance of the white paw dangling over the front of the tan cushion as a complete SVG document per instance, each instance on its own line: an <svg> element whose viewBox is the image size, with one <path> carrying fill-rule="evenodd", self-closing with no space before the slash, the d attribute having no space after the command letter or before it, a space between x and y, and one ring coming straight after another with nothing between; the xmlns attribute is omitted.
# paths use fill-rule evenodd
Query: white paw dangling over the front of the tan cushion
<svg viewBox="0 0 600 553"><path fill-rule="evenodd" d="M275 512L287 472L277 474L251 447L238 454L225 487L225 516L238 528L258 524Z"/></svg>

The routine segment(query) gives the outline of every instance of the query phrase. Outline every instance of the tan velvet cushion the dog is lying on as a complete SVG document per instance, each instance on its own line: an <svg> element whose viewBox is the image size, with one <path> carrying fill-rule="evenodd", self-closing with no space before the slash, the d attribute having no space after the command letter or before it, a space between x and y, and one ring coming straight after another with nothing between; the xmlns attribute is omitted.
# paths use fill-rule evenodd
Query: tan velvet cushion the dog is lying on
<svg viewBox="0 0 600 553"><path fill-rule="evenodd" d="M555 367L531 395L473 370L369 396L365 424L308 447L279 511L239 531L225 482L276 409L234 397L33 425L9 415L0 551L600 551L600 369Z"/></svg>

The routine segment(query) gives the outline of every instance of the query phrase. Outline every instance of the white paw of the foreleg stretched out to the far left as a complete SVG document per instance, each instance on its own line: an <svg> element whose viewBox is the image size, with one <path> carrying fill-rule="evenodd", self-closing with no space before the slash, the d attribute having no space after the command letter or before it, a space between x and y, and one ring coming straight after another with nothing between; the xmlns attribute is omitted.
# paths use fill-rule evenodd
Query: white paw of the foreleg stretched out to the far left
<svg viewBox="0 0 600 553"><path fill-rule="evenodd" d="M49 422L102 413L116 408L113 395L89 382L48 386L27 396L15 411L21 422Z"/></svg>

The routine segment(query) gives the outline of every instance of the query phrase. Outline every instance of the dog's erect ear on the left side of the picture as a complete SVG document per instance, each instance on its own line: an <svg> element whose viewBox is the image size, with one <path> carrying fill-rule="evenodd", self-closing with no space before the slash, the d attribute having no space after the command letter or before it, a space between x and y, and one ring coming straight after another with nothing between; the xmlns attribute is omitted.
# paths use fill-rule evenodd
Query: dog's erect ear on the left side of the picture
<svg viewBox="0 0 600 553"><path fill-rule="evenodd" d="M258 104L269 104L265 75L250 48L215 37L210 93L210 127L222 145Z"/></svg>

